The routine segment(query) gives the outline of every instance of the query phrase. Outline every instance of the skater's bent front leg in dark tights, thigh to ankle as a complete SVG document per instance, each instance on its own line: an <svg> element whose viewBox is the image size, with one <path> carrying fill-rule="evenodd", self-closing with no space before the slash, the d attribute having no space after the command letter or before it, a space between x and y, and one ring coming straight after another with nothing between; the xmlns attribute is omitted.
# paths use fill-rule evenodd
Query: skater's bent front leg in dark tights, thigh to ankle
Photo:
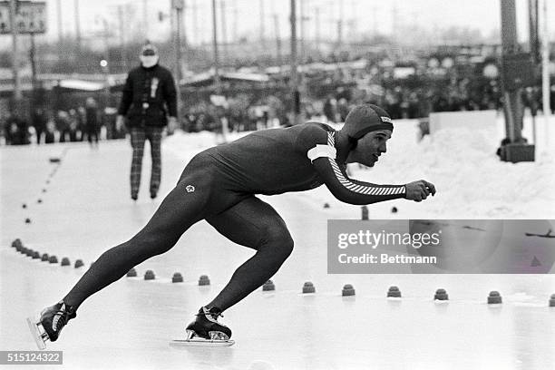
<svg viewBox="0 0 555 370"><path fill-rule="evenodd" d="M206 306L224 311L262 286L277 272L293 251L293 239L277 211L254 196L207 220L228 239L257 250Z"/></svg>

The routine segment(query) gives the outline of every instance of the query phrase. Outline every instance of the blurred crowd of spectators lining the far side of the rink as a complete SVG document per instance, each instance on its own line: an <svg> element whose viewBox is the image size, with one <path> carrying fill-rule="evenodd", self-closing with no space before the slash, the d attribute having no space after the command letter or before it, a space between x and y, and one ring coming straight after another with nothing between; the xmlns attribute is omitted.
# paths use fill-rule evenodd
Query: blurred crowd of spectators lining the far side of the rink
<svg viewBox="0 0 555 370"><path fill-rule="evenodd" d="M455 62L447 66L437 61L430 63L433 60L430 56L413 58L408 63L393 62L394 58L389 56L358 60L364 63L351 60L350 64L347 56L344 59L335 64L313 63L314 67L304 67L298 102L301 120L343 122L352 106L360 102L383 106L394 119L425 118L430 112L502 109L499 73L484 73L487 63L496 63L492 55L482 58L485 63L470 63L471 58L463 58L466 62L458 63L460 58L452 55L451 60ZM397 75L397 70L410 73ZM270 75L270 82L262 87L231 87L224 90L225 97L220 97L223 99L212 100L210 94L204 94L202 99L185 102L180 112L180 129L221 132L224 127L228 131L253 131L288 126L295 102L287 76L287 72ZM184 97L201 95L197 90L182 93ZM534 115L541 111L540 88L524 89L522 102ZM550 102L553 112L554 91ZM84 106L67 111L47 112L38 108L30 122L6 117L5 141L29 142L27 127L34 128L37 143L85 139L95 142L102 126L107 139L125 137L125 131L115 130L114 114L112 108L105 108L101 113L92 98Z"/></svg>

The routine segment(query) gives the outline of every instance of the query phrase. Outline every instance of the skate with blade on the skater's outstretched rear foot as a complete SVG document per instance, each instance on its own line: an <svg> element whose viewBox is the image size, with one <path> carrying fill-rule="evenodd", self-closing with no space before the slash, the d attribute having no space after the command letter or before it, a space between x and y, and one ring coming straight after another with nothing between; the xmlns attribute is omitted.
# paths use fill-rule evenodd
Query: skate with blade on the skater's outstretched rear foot
<svg viewBox="0 0 555 370"><path fill-rule="evenodd" d="M60 301L54 306L44 308L38 322L27 318L36 345L40 349L44 349L47 340L55 342L60 336L63 326L75 316L77 316L75 309Z"/></svg>

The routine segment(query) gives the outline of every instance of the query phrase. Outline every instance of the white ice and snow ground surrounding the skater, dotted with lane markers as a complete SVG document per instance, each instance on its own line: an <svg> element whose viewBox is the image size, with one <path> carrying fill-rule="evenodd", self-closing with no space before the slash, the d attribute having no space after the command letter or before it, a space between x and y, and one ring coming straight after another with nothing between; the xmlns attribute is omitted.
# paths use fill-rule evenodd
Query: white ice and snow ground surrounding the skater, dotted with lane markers
<svg viewBox="0 0 555 370"><path fill-rule="evenodd" d="M533 163L501 162L494 155L501 133L444 131L418 144L415 122L399 122L378 165L354 168L354 177L377 183L424 178L437 185L438 194L420 204L371 205L371 218L555 219L553 151L540 147ZM207 132L179 133L164 141L162 197L185 163L213 142ZM128 141L102 142L98 151L68 143L4 147L0 153L0 350L34 350L24 317L63 297L106 248L137 232L161 200L149 198L148 155L140 200L129 199ZM51 157L62 157L60 165L50 163ZM552 275L327 275L326 220L359 219L360 208L339 203L325 187L263 198L286 220L296 248L272 278L275 292L258 289L221 319L233 330L235 346L169 346L252 254L200 222L170 252L138 266L139 277L124 277L83 304L61 339L49 344L63 350L64 365L58 368L555 367L555 308L547 307L555 293ZM393 206L398 213L390 212ZM24 223L27 217L30 224ZM16 253L9 247L15 238L27 248L70 258L72 267ZM77 258L84 268L73 268ZM147 269L156 273L155 280L141 278ZM171 283L176 271L183 283ZM198 287L203 274L211 286ZM305 281L314 283L316 294L301 294ZM355 297L341 297L346 283L354 285ZM392 285L403 298L385 298ZM441 305L433 302L439 287L450 298ZM502 305L486 305L491 290L501 292Z"/></svg>

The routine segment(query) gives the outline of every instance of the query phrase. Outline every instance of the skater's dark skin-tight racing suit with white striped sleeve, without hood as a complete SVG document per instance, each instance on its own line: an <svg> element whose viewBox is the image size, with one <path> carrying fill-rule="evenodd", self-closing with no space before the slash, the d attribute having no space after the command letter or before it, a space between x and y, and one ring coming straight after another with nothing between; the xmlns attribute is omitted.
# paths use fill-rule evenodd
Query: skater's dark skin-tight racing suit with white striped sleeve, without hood
<svg viewBox="0 0 555 370"><path fill-rule="evenodd" d="M255 194L326 184L338 200L351 204L404 198L404 185L350 180L345 164L348 148L339 148L336 137L329 126L308 122L253 132L200 152L144 229L102 254L63 301L78 307L132 267L168 251L191 225L206 219L230 240L257 250L208 305L222 311L233 306L272 277L293 249L284 220Z"/></svg>

